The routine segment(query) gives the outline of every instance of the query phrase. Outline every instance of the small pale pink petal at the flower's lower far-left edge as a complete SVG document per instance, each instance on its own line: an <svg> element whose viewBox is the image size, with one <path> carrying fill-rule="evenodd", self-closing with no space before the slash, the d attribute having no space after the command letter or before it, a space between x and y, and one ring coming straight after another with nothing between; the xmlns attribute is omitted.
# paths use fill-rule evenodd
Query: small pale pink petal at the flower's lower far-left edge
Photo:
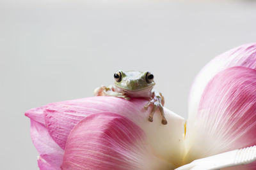
<svg viewBox="0 0 256 170"><path fill-rule="evenodd" d="M56 170L60 169L63 149L52 140L46 127L34 120L31 120L31 139L40 153L40 157L47 162L47 165L49 164Z"/></svg>

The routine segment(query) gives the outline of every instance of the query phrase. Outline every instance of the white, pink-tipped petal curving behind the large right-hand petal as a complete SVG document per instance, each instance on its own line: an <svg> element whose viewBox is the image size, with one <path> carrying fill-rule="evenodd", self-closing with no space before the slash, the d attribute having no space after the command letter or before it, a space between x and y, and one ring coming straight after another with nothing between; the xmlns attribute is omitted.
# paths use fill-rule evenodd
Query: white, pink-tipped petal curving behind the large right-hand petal
<svg viewBox="0 0 256 170"><path fill-rule="evenodd" d="M241 45L215 57L196 76L189 94L189 119L197 113L207 83L220 71L234 66L256 69L256 43Z"/></svg>

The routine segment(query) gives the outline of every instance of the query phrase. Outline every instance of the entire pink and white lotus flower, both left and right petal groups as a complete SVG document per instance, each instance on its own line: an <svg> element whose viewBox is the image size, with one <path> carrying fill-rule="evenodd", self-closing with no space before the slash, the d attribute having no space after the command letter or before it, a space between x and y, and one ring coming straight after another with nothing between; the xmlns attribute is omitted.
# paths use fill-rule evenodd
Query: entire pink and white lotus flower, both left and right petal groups
<svg viewBox="0 0 256 170"><path fill-rule="evenodd" d="M256 145L256 44L213 59L196 77L189 118L164 108L148 122L147 100L88 97L26 112L41 170L175 169ZM255 169L256 164L237 167ZM232 168L234 169L234 167Z"/></svg>

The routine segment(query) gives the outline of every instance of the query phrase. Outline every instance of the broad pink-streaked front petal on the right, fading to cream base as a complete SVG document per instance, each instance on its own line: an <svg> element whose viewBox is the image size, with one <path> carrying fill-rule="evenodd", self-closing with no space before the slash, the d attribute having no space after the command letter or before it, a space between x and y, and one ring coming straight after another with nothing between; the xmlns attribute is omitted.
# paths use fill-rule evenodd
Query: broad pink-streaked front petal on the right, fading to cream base
<svg viewBox="0 0 256 170"><path fill-rule="evenodd" d="M205 87L195 122L188 126L188 157L256 145L255 134L256 70L225 69Z"/></svg>

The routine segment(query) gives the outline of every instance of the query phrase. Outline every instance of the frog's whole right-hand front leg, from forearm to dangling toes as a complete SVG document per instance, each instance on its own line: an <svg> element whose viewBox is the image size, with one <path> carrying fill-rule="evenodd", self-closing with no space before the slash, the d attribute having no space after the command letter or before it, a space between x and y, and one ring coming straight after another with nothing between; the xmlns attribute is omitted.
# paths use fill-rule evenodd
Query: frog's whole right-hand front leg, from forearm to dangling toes
<svg viewBox="0 0 256 170"><path fill-rule="evenodd" d="M153 116L154 113L156 111L157 108L159 108L159 111L161 113L161 119L162 119L162 124L166 125L167 124L167 120L164 117L164 97L160 92L154 91L153 92L153 96L150 99L150 101L148 101L147 104L145 104L144 108L147 110L148 106L152 105L152 111L150 112L149 116L148 116L148 121L149 122L153 122Z"/></svg>

